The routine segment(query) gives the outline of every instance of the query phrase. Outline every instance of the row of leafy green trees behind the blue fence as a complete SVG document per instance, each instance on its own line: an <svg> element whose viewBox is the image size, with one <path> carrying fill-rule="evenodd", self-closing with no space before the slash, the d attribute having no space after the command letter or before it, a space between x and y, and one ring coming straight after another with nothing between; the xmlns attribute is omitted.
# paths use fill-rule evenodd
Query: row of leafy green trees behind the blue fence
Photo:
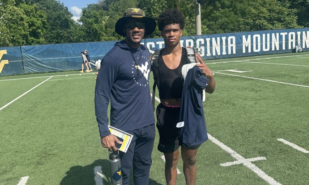
<svg viewBox="0 0 309 185"><path fill-rule="evenodd" d="M154 19L177 8L186 19L183 34L195 35L194 6L194 0L98 0L83 8L76 23L60 1L0 0L0 47L119 40L114 26L130 7ZM207 0L201 20L203 35L309 27L309 0Z"/></svg>

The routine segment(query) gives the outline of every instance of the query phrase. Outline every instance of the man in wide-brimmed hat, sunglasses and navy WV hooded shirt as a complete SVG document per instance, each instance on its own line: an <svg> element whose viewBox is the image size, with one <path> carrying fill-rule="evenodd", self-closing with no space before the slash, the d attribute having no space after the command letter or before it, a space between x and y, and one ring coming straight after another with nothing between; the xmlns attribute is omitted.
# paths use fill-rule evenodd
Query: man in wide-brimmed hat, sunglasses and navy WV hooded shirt
<svg viewBox="0 0 309 185"><path fill-rule="evenodd" d="M115 25L117 34L125 40L117 42L101 62L95 86L95 115L99 125L102 146L116 150L121 142L108 129L110 125L133 135L126 153L120 151L123 185L129 184L133 164L134 184L147 185L151 165L151 152L155 138L155 117L152 113L149 77L149 50L141 45L150 35L156 22L145 17L143 10L129 8Z"/></svg>

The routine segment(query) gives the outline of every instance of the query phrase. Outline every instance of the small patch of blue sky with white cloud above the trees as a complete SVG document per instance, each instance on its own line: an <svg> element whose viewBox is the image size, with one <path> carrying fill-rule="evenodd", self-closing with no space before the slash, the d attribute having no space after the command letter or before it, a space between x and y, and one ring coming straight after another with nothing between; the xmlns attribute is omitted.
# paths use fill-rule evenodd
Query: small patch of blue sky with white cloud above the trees
<svg viewBox="0 0 309 185"><path fill-rule="evenodd" d="M74 21L79 19L82 9L87 7L87 4L98 3L98 0L60 0L64 6L67 6L69 11L73 14Z"/></svg>

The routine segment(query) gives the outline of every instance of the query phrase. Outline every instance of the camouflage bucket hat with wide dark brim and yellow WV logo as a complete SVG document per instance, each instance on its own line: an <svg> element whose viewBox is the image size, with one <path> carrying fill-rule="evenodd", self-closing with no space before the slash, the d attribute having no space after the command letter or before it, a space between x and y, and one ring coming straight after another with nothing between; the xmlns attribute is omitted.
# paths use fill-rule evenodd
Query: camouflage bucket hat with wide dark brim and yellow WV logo
<svg viewBox="0 0 309 185"><path fill-rule="evenodd" d="M146 17L145 12L139 8L129 8L125 11L125 14L123 17L118 19L118 21L115 24L115 31L121 36L126 36L125 32L123 31L123 26L129 21L129 20L136 20L136 22L142 22L145 23L145 34L150 35L153 31L155 31L155 27L157 26L157 23L155 22L155 19L152 19L151 17Z"/></svg>

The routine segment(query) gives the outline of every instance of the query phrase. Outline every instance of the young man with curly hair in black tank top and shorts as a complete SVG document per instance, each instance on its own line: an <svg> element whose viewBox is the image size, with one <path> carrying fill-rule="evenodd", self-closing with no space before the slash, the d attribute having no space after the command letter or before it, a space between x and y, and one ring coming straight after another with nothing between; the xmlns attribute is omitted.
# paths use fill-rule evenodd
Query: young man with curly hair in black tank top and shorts
<svg viewBox="0 0 309 185"><path fill-rule="evenodd" d="M198 147L201 146L201 143L205 142L207 138L205 138L205 136L203 136L203 139L194 138L195 141L199 142L195 142L194 145L188 144L180 139L179 128L177 128L178 126L176 127L179 122L184 86L184 77L181 69L185 64L190 63L190 61L188 61L186 48L180 46L180 37L182 36L182 29L185 26L184 16L176 9L165 10L159 15L157 24L165 45L165 48L159 53L157 68L155 70L152 69L161 101L156 109L157 128L160 136L158 150L164 153L166 161L165 179L167 185L176 185L176 166L179 159L178 148L181 146L186 184L192 185L195 184L196 180L197 150ZM208 79L208 85L205 91L212 93L215 89L213 73L203 62L200 55L197 55L196 58L197 62L200 63L196 64L196 66L201 69L201 73L205 74ZM188 117L190 118L190 115L188 115ZM203 121L205 127L205 120ZM203 134L207 137L207 133L205 132Z"/></svg>

